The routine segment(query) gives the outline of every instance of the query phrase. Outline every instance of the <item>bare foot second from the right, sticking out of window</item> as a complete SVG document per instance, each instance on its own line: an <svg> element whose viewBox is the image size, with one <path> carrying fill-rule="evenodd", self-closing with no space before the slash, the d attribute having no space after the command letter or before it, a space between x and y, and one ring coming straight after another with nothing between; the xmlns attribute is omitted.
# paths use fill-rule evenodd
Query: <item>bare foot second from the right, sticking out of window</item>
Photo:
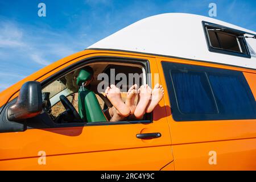
<svg viewBox="0 0 256 182"><path fill-rule="evenodd" d="M145 114L145 110L148 105L148 102L150 101L152 90L150 86L142 85L138 91L139 91L139 101L134 111L134 116L136 118L142 118L142 116Z"/></svg>

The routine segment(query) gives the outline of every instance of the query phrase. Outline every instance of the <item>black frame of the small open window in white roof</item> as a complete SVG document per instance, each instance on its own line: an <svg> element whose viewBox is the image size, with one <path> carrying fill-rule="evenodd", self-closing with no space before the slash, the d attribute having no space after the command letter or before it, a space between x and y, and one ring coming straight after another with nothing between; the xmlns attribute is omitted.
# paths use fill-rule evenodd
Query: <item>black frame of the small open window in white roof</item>
<svg viewBox="0 0 256 182"><path fill-rule="evenodd" d="M244 36L244 34L250 34L250 33L240 31L240 30L236 30L234 28L229 28L229 27L226 27L226 26L221 26L220 24L215 24L215 23L210 23L210 22L205 22L205 21L202 21L202 24L203 24L205 39L207 41L208 50L210 52L223 53L225 55L239 56L239 57L245 57L245 58L249 58L249 59L251 58L250 51L249 51L249 48L247 46L245 38L238 38L239 43L241 44L240 45L241 49L244 52L237 52L237 51L231 51L231 50L228 50L228 49L213 47L212 44L210 43L210 38L209 38L209 34L208 34L208 27L224 28L225 29L224 32L230 33L230 34L233 34L233 35L237 35L237 36Z"/></svg>

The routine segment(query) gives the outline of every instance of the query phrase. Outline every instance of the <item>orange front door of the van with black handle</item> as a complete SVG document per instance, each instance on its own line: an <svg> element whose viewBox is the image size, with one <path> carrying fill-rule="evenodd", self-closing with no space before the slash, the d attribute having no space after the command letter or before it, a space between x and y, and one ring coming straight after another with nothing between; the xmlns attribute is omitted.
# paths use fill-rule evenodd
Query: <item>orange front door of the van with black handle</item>
<svg viewBox="0 0 256 182"><path fill-rule="evenodd" d="M124 57L146 59L150 66L148 71L158 74L154 57L122 55L122 59ZM154 77L151 79L154 82ZM159 133L160 137L137 137L137 134L147 133ZM154 110L152 121L67 125L0 133L0 154L1 170L160 170L173 160L163 100Z"/></svg>

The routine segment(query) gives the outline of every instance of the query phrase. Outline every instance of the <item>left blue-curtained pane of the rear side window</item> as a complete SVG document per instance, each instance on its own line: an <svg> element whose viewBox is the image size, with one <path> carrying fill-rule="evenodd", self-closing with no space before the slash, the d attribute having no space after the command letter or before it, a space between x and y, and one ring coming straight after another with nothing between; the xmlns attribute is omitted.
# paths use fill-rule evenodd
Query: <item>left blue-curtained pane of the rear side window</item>
<svg viewBox="0 0 256 182"><path fill-rule="evenodd" d="M216 113L216 105L205 73L171 72L179 110L183 114Z"/></svg>

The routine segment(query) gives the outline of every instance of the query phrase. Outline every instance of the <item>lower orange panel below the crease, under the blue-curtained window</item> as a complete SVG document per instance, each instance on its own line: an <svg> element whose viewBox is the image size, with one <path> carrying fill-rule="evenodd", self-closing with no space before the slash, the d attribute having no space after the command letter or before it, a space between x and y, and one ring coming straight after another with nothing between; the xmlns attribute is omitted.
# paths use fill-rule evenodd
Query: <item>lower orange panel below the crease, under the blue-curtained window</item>
<svg viewBox="0 0 256 182"><path fill-rule="evenodd" d="M255 170L256 139L177 144L175 170Z"/></svg>

